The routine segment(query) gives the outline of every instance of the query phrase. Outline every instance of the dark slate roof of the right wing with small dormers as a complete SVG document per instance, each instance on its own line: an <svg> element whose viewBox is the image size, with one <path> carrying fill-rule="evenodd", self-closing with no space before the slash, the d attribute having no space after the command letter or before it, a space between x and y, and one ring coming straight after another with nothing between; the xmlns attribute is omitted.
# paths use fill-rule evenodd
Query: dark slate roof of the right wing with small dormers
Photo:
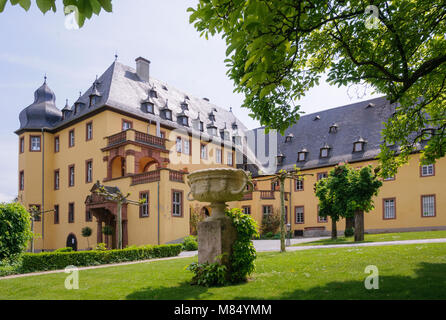
<svg viewBox="0 0 446 320"><path fill-rule="evenodd" d="M373 106L367 107L370 103ZM332 108L302 116L298 123L288 128L284 135L277 135L277 150L285 158L280 169L292 169L294 165L301 169L310 169L375 158L383 143L381 130L384 122L395 112L384 97L361 101L350 105ZM337 126L336 133L329 133L330 126ZM255 129L260 134L262 128ZM292 135L290 142L285 138ZM363 152L353 152L353 143L365 141ZM268 150L268 143L266 142ZM329 147L327 158L320 157L320 149ZM258 156L258 146L255 147ZM306 149L306 161L297 161L299 151Z"/></svg>

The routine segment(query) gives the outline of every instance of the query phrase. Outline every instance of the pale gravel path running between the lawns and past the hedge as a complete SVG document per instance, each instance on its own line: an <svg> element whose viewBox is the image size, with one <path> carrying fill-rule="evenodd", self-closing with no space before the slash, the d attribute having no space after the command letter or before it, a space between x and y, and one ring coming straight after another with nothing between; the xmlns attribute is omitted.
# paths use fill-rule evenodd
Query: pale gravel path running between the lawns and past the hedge
<svg viewBox="0 0 446 320"><path fill-rule="evenodd" d="M291 244L294 245L294 244L299 244L299 243L317 241L317 240L326 239L326 238L328 238L328 237L291 239ZM253 242L254 242L254 247L256 248L256 250L258 252L279 251L279 249L280 249L280 240L254 240ZM422 244L422 243L446 243L446 238L443 238L443 239L421 239L421 240L400 240L400 241L385 241L385 242L367 242L367 243L350 243L350 244L330 244L330 245L319 245L319 246L295 246L295 247L287 247L286 250L287 251L300 251L300 250L310 250L310 249L372 247L372 246L387 246L387 245L400 245L400 244ZM104 265L100 265L100 266L91 266L91 267L80 267L80 268L78 268L78 270L99 269L99 268L108 268L108 267L123 266L123 265L129 265L129 264L137 264L137 263L172 260L172 259L178 259L178 258L189 258L189 257L196 256L197 254L198 254L198 251L183 251L177 257L140 260L140 261L122 262L122 263L114 263L114 264L104 264ZM38 276L38 275L50 274L50 273L61 273L64 271L65 270L53 270L53 271L17 274L17 275L11 275L11 276L6 276L6 277L0 277L0 280L20 278L20 277L29 277L29 276Z"/></svg>

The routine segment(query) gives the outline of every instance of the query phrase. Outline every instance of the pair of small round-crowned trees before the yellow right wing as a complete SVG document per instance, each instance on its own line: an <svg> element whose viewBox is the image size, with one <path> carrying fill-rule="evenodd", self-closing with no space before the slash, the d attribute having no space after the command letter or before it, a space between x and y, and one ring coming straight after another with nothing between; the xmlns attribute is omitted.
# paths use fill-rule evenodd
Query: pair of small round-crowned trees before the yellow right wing
<svg viewBox="0 0 446 320"><path fill-rule="evenodd" d="M353 169L339 164L327 178L319 180L314 191L319 198L319 215L332 219L332 239L337 237L336 222L342 218L355 218L355 241L364 240L364 212L374 208L373 196L382 185L371 166Z"/></svg>

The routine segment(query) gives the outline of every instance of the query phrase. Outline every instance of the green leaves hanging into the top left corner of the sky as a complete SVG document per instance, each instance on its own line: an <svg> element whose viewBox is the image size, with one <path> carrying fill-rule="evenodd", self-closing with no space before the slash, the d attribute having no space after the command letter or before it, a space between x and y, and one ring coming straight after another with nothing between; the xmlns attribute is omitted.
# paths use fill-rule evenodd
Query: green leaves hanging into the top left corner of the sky
<svg viewBox="0 0 446 320"><path fill-rule="evenodd" d="M31 7L31 0L9 0L11 5L20 5L26 11ZM0 12L5 10L8 0L0 0ZM52 10L56 12L56 0L36 0L37 7L43 14ZM99 15L101 10L112 12L112 0L63 0L65 15L74 13L79 27L84 25L85 19L90 19L93 14Z"/></svg>

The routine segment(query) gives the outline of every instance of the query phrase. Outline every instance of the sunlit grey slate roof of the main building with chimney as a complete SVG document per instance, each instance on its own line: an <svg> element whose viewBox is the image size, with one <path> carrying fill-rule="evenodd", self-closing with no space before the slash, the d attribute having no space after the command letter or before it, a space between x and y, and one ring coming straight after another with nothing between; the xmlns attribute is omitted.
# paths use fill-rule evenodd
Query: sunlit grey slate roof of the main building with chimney
<svg viewBox="0 0 446 320"><path fill-rule="evenodd" d="M136 70L129 66L123 65L115 61L96 81L96 85L92 85L84 94L79 97L77 102L82 102L79 110L76 112L67 113L64 120L55 124L54 128L63 126L76 118L82 117L95 109L107 105L118 110L134 114L136 116L156 122L157 120L169 127L180 127L190 131L193 119L197 119L198 113L201 114L201 121L204 122L204 127L211 121L203 115L207 115L214 110L215 122L217 128L222 129L225 123L236 122L239 129L246 130L240 120L228 110L220 108L207 100L196 98L185 94L178 89L161 82L157 79L150 78L150 82L139 79ZM157 97L149 97L150 90L155 90ZM96 105L89 107L90 98L92 94L100 94L97 97ZM154 104L154 114L146 113L141 109L143 101L150 101ZM183 110L181 104L187 102L188 110ZM172 120L162 119L160 117L160 110L165 108L166 103L170 110L172 110ZM74 111L74 107L71 109ZM215 111L216 110L216 111ZM189 128L183 127L178 123L178 116L186 115L189 117ZM229 129L229 131L232 131ZM231 132L232 134L232 132Z"/></svg>

